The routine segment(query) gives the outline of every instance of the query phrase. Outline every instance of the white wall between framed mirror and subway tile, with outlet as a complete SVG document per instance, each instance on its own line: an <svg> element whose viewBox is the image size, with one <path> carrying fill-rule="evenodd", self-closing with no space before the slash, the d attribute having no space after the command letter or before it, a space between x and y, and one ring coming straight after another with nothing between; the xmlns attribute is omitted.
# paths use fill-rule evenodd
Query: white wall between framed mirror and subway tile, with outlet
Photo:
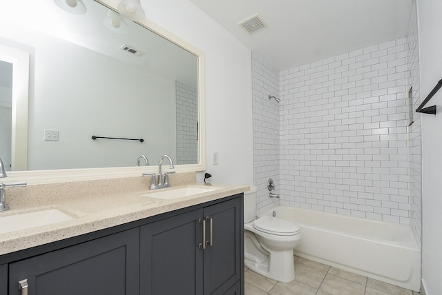
<svg viewBox="0 0 442 295"><path fill-rule="evenodd" d="M253 184L251 50L188 0L142 1L146 19L205 53L206 171L213 183ZM212 165L212 152L219 164ZM198 173L202 181L204 173Z"/></svg>

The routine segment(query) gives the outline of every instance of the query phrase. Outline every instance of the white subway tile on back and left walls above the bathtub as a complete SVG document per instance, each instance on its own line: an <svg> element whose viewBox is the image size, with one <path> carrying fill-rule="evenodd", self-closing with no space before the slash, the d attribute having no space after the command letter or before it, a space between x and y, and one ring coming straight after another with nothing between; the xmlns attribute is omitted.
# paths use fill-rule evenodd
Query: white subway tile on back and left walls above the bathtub
<svg viewBox="0 0 442 295"><path fill-rule="evenodd" d="M253 54L258 213L271 206L268 162L282 205L410 223L406 49L397 39L279 72L275 118L265 104L278 71ZM262 152L271 135L276 156Z"/></svg>

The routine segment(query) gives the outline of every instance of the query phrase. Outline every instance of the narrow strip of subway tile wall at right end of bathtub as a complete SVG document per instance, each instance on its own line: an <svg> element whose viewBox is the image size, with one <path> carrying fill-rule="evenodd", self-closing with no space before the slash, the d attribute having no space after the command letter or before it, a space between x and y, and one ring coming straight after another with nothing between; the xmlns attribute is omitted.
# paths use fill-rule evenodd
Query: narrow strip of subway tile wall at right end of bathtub
<svg viewBox="0 0 442 295"><path fill-rule="evenodd" d="M419 77L419 40L417 28L416 1L412 3L410 22L407 37L407 68L409 70L409 84L412 87L412 101L410 121L413 121L409 130L410 145L410 205L411 205L411 227L418 241L422 245L422 176L421 176L421 114L414 112L421 103L420 77Z"/></svg>

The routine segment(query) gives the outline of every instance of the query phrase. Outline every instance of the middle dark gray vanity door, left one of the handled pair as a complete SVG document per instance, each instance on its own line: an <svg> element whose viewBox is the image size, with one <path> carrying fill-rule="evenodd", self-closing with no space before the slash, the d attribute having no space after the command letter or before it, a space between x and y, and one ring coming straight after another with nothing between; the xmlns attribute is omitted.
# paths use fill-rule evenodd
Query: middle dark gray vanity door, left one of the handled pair
<svg viewBox="0 0 442 295"><path fill-rule="evenodd" d="M141 227L140 294L202 294L202 209Z"/></svg>

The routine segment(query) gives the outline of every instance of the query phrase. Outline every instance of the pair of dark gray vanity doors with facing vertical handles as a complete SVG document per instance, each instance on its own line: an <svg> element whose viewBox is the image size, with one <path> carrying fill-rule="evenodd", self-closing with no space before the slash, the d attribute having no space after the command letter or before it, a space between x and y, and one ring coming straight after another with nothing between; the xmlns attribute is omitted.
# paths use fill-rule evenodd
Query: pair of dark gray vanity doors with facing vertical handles
<svg viewBox="0 0 442 295"><path fill-rule="evenodd" d="M238 197L142 226L140 294L241 294L240 212Z"/></svg>

